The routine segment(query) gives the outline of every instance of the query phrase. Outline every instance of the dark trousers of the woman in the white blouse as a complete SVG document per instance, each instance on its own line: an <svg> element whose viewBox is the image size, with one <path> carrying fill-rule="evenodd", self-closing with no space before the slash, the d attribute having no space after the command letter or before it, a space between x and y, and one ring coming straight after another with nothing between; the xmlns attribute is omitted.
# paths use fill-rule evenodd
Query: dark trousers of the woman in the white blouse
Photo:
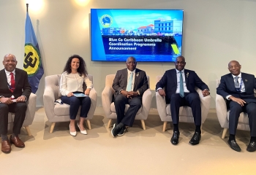
<svg viewBox="0 0 256 175"><path fill-rule="evenodd" d="M64 104L69 104L69 115L71 120L75 120L78 114L78 109L81 106L80 117L87 117L89 109L91 107L91 98L86 97L76 97L76 96L61 96L61 101Z"/></svg>

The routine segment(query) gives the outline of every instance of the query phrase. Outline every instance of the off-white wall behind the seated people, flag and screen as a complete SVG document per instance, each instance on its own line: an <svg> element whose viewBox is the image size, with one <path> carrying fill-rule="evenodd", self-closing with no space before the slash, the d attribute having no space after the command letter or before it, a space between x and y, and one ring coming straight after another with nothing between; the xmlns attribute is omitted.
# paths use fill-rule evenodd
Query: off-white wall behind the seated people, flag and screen
<svg viewBox="0 0 256 175"><path fill-rule="evenodd" d="M61 74L67 58L81 55L94 75L94 87L101 106L105 75L125 68L125 63L92 62L90 53L89 13L91 8L126 9L184 9L183 55L187 69L192 69L211 89L211 108L215 107L215 79L227 74L227 63L237 60L242 71L255 74L256 2L252 0L1 0L0 1L0 57L12 53L23 67L26 2L42 54L45 76ZM80 0L83 1L83 0ZM86 0L84 0L86 1ZM36 4L41 3L42 9ZM0 69L4 66L0 65ZM138 63L151 77L154 92L155 77L173 63ZM37 106L42 106L44 90L42 77L37 91ZM154 93L153 93L154 94ZM152 106L156 106L155 98Z"/></svg>

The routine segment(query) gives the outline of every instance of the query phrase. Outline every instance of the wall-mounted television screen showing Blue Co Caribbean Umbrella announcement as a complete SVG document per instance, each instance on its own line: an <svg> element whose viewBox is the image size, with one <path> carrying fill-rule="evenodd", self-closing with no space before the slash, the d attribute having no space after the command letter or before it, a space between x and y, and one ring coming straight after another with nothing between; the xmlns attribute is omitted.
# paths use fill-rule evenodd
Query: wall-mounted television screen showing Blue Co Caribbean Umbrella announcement
<svg viewBox="0 0 256 175"><path fill-rule="evenodd" d="M91 61L175 61L183 10L91 9Z"/></svg>

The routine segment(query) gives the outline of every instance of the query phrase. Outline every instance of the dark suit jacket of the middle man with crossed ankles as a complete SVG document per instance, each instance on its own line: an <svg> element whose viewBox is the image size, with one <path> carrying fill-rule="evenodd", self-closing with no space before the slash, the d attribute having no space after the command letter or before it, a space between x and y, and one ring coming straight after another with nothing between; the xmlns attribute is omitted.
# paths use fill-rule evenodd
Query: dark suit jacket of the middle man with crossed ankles
<svg viewBox="0 0 256 175"><path fill-rule="evenodd" d="M127 89L127 69L122 69L116 72L116 77L113 80L112 88L115 90L115 97L119 94L121 89ZM135 82L133 86L133 91L140 91L140 96L148 89L148 79L146 77L146 72L140 69L135 70Z"/></svg>

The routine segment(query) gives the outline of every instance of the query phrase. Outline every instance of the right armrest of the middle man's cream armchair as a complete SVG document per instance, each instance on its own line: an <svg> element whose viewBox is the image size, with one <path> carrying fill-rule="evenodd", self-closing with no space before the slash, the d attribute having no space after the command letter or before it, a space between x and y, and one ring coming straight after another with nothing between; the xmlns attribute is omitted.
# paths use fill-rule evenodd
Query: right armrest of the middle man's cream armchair
<svg viewBox="0 0 256 175"><path fill-rule="evenodd" d="M144 120L148 118L148 112L151 107L151 101L152 101L152 93L150 89L147 89L142 96L142 114L144 117L146 117Z"/></svg>

